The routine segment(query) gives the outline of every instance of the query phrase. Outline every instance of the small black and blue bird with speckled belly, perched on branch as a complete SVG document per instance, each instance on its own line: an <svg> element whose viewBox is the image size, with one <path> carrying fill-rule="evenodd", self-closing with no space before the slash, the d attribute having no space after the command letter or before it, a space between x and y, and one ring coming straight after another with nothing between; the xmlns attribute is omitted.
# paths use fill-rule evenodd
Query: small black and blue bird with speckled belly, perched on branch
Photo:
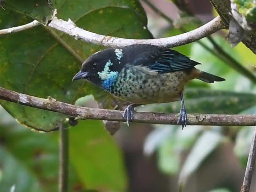
<svg viewBox="0 0 256 192"><path fill-rule="evenodd" d="M132 44L95 52L83 62L72 80L86 79L131 103L123 112L128 126L137 106L181 100L177 124L183 129L187 125L185 84L195 78L207 83L225 80L196 69L198 64L201 63L168 47Z"/></svg>

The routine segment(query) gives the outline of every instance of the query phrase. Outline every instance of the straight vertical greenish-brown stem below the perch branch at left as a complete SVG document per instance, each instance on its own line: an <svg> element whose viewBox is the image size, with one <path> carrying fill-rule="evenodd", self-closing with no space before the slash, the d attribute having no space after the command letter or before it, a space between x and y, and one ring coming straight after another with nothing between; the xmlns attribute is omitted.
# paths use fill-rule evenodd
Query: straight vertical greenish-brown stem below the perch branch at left
<svg viewBox="0 0 256 192"><path fill-rule="evenodd" d="M68 191L68 129L60 124L59 192Z"/></svg>

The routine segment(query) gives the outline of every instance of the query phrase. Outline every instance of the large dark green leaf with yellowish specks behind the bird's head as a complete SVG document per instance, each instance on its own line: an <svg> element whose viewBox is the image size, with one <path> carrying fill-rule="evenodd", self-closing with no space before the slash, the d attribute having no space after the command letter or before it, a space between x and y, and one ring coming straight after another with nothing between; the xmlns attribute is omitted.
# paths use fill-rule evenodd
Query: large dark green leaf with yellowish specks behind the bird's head
<svg viewBox="0 0 256 192"><path fill-rule="evenodd" d="M77 26L100 34L152 38L145 28L147 18L138 1L67 0L58 9L57 16L60 19L71 18ZM27 16L8 10L1 11L1 28L30 21ZM71 81L81 66L81 60L85 60L102 47L75 40L61 32L57 32L61 39L56 40L55 32L48 29L37 26L1 36L1 87L42 98L49 95L68 103L75 103L79 97L88 94L93 94L98 101L106 99L108 94L98 87L83 80ZM66 118L59 113L24 107L3 100L0 103L21 124L35 130L58 129L59 123Z"/></svg>

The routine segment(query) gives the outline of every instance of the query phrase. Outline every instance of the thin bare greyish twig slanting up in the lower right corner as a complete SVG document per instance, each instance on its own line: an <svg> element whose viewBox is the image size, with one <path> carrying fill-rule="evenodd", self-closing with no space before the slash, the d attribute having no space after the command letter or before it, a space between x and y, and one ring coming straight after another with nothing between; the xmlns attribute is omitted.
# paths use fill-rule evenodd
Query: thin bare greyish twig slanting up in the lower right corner
<svg viewBox="0 0 256 192"><path fill-rule="evenodd" d="M244 181L243 181L240 192L249 192L250 190L253 169L255 166L255 160L256 160L256 127L254 128L254 132L252 136L250 153L248 156L247 165L244 173Z"/></svg>

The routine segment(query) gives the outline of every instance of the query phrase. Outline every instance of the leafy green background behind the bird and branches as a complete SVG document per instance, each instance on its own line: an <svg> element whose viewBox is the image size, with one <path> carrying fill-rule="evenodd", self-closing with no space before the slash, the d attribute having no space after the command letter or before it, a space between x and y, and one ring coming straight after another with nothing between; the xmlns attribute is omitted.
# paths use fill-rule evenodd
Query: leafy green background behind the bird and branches
<svg viewBox="0 0 256 192"><path fill-rule="evenodd" d="M49 16L49 4L12 2L15 6L5 4L6 9L1 9L1 29ZM173 36L216 16L208 1L189 1L186 9L179 6L183 1L151 2L153 7L148 1L137 0L56 0L51 6L57 8L59 19L70 18L86 30L125 38ZM25 12L31 4L34 9ZM44 9L38 11L37 7ZM190 82L185 91L188 113L255 114L256 57L242 43L232 49L226 35L223 30L174 48L202 63L198 68L226 79L214 84ZM82 100L84 106L94 102L97 107L96 100L100 106L111 108L112 99L106 92L84 81L71 81L81 61L102 48L42 26L3 35L0 85L69 103L92 94ZM3 100L1 105L1 190L10 191L15 185L15 192L57 191L59 133L48 131L56 129L67 116ZM166 113L178 113L179 109L180 101L138 108ZM127 127L121 123L115 136L110 136L104 124L96 120L79 121L67 128L69 191L239 191L253 132L253 127L188 125L182 131L175 125L133 123ZM251 191L256 189L255 180L254 174Z"/></svg>

